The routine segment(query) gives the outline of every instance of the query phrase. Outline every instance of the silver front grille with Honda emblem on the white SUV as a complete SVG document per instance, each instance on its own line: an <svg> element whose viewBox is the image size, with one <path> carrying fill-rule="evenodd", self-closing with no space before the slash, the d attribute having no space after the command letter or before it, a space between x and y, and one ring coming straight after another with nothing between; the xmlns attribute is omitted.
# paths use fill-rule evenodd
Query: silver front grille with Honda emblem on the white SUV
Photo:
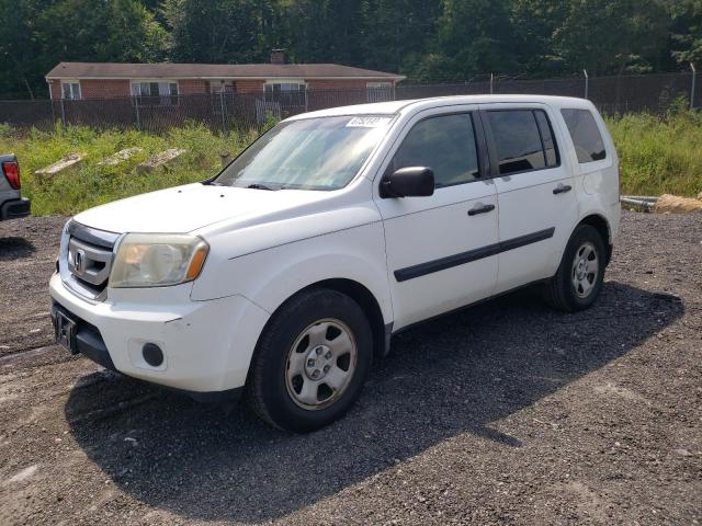
<svg viewBox="0 0 702 526"><path fill-rule="evenodd" d="M68 225L64 282L81 296L104 299L113 249L118 237L118 233L71 221Z"/></svg>

